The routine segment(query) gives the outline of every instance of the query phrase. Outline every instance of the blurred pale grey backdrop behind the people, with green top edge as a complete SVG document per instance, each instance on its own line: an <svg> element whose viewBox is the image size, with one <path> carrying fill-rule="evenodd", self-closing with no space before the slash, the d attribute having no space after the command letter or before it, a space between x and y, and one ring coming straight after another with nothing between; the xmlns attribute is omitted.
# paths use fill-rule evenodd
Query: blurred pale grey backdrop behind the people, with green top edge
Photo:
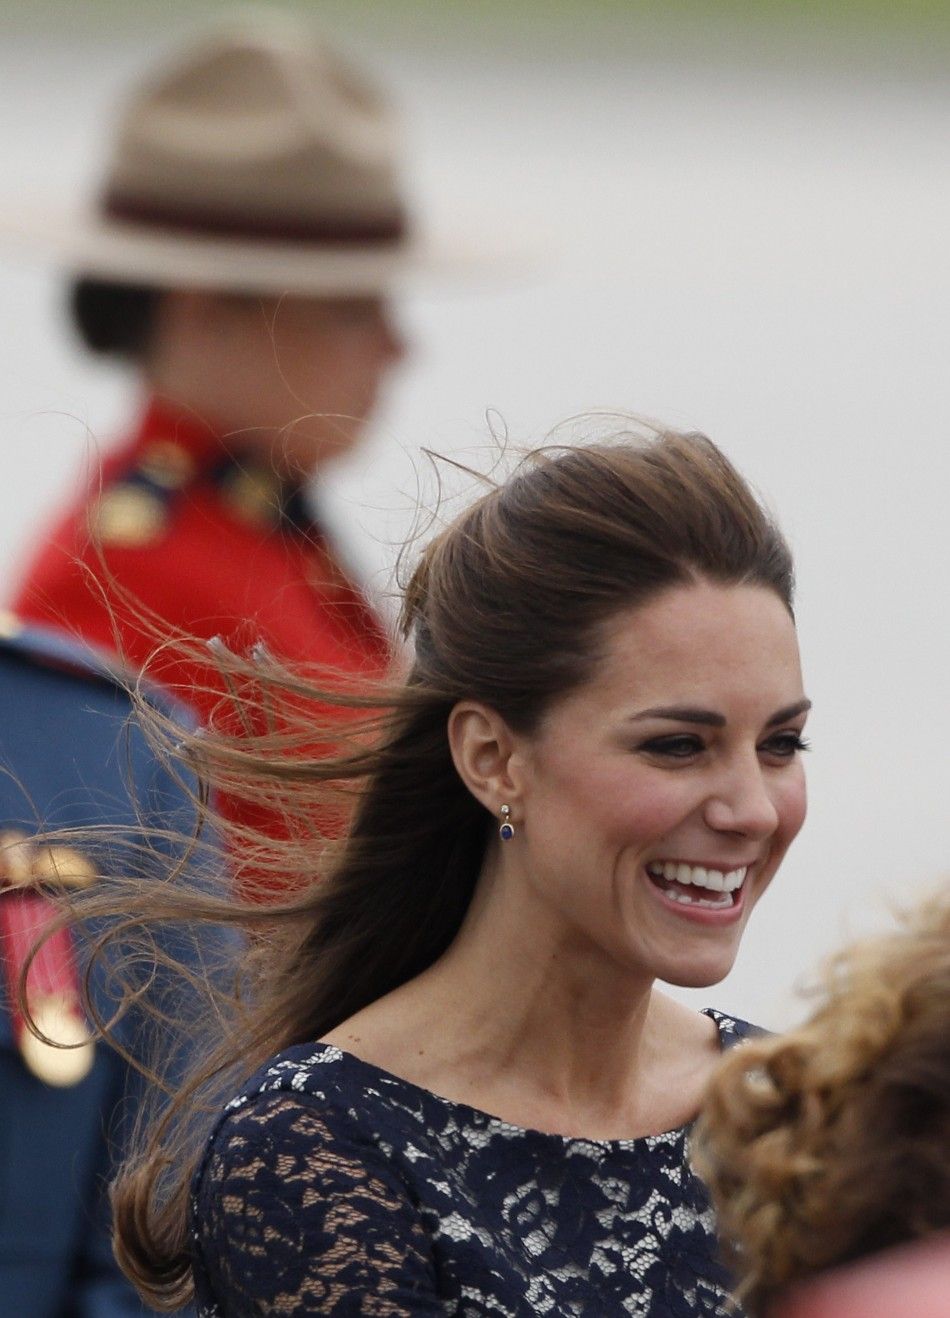
<svg viewBox="0 0 950 1318"><path fill-rule="evenodd" d="M0 4L8 196L90 192L116 96L221 8ZM418 210L539 256L406 299L410 364L323 492L370 587L391 590L422 447L488 467L493 432L592 410L706 431L791 535L812 813L735 971L692 996L795 1019L824 953L950 873L945 5L296 8L398 94ZM129 407L61 297L0 254L7 571Z"/></svg>

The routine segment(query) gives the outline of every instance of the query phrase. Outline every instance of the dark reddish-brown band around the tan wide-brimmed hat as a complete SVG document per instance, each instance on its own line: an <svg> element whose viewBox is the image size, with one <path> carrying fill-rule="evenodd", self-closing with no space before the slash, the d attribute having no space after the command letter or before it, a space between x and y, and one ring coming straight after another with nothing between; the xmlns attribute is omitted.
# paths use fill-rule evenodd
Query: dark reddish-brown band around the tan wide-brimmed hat
<svg viewBox="0 0 950 1318"><path fill-rule="evenodd" d="M107 194L103 212L112 220L169 229L175 233L271 243L314 243L323 246L390 246L406 237L402 211L374 219L270 219L225 211L183 210L117 192Z"/></svg>

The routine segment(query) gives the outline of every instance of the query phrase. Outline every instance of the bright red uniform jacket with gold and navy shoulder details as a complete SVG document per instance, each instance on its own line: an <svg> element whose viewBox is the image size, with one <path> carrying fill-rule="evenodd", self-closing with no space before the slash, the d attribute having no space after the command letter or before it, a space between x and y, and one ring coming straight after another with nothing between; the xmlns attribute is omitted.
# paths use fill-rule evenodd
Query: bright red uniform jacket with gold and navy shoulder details
<svg viewBox="0 0 950 1318"><path fill-rule="evenodd" d="M381 676L390 658L300 490L158 403L41 546L13 608L148 663L207 718L221 692L213 667L174 650L153 659L157 637L130 600L190 637L242 652L261 641L291 667ZM245 808L238 817L248 821Z"/></svg>

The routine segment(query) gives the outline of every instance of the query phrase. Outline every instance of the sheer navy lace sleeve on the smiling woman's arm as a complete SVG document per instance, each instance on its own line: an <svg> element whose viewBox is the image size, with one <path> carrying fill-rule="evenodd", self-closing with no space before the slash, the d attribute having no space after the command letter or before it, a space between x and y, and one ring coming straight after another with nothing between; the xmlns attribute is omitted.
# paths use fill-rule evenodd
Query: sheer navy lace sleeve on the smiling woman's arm
<svg viewBox="0 0 950 1318"><path fill-rule="evenodd" d="M219 1130L194 1202L196 1281L217 1304L211 1313L444 1313L406 1185L344 1122L308 1095L282 1093L262 1095Z"/></svg>

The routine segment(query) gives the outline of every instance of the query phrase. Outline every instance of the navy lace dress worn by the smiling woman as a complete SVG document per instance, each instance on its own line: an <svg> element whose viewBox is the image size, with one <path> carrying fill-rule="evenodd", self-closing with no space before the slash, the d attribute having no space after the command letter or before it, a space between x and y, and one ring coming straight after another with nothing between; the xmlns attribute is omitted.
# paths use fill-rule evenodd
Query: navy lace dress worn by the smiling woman
<svg viewBox="0 0 950 1318"><path fill-rule="evenodd" d="M708 1015L723 1048L750 1032ZM526 1131L339 1048L287 1049L195 1177L200 1318L734 1313L688 1136Z"/></svg>

